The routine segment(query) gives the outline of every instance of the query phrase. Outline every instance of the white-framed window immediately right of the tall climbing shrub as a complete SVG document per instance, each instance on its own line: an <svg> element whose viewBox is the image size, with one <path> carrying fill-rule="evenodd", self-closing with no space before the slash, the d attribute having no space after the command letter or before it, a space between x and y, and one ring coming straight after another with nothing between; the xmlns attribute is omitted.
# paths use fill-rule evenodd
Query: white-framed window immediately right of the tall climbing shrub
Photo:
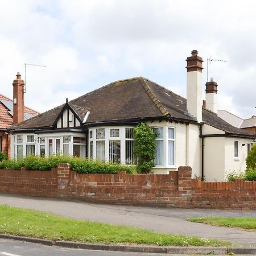
<svg viewBox="0 0 256 256"><path fill-rule="evenodd" d="M155 165L175 166L175 129L172 127L154 127L157 134Z"/></svg>

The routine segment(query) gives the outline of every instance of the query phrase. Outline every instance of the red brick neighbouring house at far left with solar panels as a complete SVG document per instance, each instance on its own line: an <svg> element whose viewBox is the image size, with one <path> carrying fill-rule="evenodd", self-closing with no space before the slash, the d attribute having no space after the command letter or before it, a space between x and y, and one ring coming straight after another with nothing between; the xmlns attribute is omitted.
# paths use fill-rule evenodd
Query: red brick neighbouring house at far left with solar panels
<svg viewBox="0 0 256 256"><path fill-rule="evenodd" d="M8 129L13 124L18 124L39 114L35 110L24 106L24 81L17 79L13 82L13 100L0 94L0 151L10 157L10 135Z"/></svg>

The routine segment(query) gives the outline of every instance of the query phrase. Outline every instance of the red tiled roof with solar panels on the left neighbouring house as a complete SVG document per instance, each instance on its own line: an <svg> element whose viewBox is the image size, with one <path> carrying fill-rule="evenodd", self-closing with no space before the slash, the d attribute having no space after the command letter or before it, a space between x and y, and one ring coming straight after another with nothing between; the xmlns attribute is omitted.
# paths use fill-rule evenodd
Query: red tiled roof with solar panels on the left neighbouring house
<svg viewBox="0 0 256 256"><path fill-rule="evenodd" d="M38 112L24 107L24 119L37 115ZM13 125L13 100L0 94L0 129L6 129Z"/></svg>

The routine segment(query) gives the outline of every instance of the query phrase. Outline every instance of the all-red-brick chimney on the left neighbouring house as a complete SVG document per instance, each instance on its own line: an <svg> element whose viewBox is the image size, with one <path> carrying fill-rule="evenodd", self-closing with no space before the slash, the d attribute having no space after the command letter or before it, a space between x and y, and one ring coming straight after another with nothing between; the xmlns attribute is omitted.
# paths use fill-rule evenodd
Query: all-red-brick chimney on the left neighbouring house
<svg viewBox="0 0 256 256"><path fill-rule="evenodd" d="M24 121L24 85L19 72L13 81L13 124Z"/></svg>

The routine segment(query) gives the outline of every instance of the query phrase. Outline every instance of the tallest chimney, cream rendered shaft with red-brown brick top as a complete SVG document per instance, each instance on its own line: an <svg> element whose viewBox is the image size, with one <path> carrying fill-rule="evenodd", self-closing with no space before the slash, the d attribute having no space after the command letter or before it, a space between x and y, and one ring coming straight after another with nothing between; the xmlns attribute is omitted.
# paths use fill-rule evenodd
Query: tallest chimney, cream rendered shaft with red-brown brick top
<svg viewBox="0 0 256 256"><path fill-rule="evenodd" d="M203 59L193 50L187 57L187 113L202 121L202 64Z"/></svg>

